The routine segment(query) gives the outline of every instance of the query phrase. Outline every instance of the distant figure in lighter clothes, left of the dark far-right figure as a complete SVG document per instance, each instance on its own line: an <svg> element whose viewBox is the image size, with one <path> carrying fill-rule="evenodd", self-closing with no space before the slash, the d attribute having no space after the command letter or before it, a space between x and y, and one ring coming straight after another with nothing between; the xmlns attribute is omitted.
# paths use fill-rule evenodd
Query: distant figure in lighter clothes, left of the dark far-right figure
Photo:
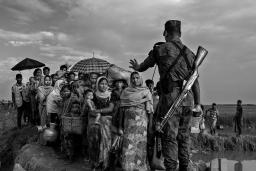
<svg viewBox="0 0 256 171"><path fill-rule="evenodd" d="M219 117L219 111L217 109L216 103L212 104L212 107L208 110L206 110L205 115L207 116L207 113L209 112L209 119L210 119L210 132L212 135L215 135L216 133L216 123Z"/></svg>

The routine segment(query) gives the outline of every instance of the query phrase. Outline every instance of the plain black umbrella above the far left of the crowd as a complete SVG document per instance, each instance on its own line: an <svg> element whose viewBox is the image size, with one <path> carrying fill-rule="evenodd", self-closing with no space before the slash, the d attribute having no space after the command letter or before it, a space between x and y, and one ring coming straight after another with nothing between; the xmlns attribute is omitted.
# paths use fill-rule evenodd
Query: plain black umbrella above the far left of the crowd
<svg viewBox="0 0 256 171"><path fill-rule="evenodd" d="M45 66L45 64L36 61L34 59L26 58L19 63L17 63L14 67L12 67L11 70L13 71L21 71L21 70L26 70L26 69L33 69L33 68L39 68Z"/></svg>

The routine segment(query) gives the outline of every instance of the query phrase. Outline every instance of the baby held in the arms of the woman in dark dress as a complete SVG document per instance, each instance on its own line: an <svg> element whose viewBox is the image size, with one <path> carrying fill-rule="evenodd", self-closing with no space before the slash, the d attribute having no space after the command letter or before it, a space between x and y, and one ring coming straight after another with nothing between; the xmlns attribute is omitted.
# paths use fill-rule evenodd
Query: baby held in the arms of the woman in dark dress
<svg viewBox="0 0 256 171"><path fill-rule="evenodd" d="M96 110L95 104L92 100L93 100L93 91L91 89L88 89L85 91L85 103L88 105L89 111ZM95 124L99 124L100 117L101 117L101 114L96 113L96 118L94 120ZM90 121L91 121L91 119L89 119L89 123L90 123Z"/></svg>

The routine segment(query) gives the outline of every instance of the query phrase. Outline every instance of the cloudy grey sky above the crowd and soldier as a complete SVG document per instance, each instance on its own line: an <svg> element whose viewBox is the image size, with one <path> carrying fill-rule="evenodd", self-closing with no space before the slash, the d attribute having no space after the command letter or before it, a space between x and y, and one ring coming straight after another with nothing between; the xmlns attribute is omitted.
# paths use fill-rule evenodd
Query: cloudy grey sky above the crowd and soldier
<svg viewBox="0 0 256 171"><path fill-rule="evenodd" d="M164 23L177 19L182 42L194 53L199 45L209 51L199 69L202 103L256 104L255 9L254 0L0 0L0 99L10 99L18 73L10 69L24 58L55 72L94 52L128 69L130 59L142 62L164 41ZM24 82L32 72L21 72Z"/></svg>

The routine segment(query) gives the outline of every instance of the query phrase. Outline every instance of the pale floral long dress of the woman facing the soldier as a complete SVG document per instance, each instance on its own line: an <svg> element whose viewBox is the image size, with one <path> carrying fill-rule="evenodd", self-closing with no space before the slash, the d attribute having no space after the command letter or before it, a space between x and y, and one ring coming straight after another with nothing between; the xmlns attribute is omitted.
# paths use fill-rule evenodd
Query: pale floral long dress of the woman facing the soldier
<svg viewBox="0 0 256 171"><path fill-rule="evenodd" d="M124 135L122 149L122 168L125 171L146 171L148 117L145 104L123 107Z"/></svg>

